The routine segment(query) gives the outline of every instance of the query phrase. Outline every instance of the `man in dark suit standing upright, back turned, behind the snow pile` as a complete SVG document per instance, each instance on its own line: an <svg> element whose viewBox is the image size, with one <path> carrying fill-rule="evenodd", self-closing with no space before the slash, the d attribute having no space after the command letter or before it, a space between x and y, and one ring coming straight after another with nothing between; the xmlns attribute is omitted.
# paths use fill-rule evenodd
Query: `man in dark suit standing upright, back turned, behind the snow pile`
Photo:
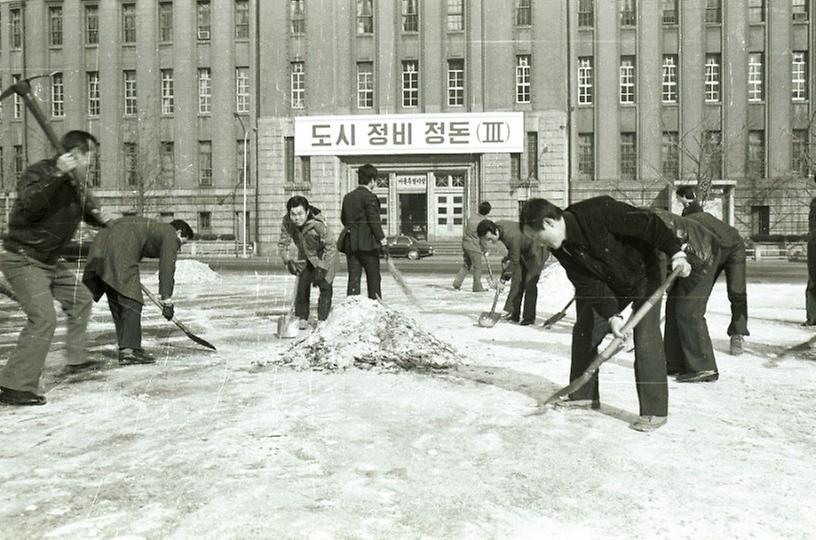
<svg viewBox="0 0 816 540"><path fill-rule="evenodd" d="M380 247L385 233L380 222L380 200L371 191L377 180L377 169L365 164L357 169L357 189L343 197L340 221L346 228L343 251L348 264L347 296L360 294L360 279L366 273L368 297L382 298L380 287Z"/></svg>

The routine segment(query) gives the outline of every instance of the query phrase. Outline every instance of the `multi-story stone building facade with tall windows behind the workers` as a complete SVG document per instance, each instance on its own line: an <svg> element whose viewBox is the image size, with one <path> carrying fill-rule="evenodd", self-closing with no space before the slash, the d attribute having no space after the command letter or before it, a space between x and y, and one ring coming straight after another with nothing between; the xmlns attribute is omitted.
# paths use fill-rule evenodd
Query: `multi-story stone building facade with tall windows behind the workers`
<svg viewBox="0 0 816 540"><path fill-rule="evenodd" d="M363 163L391 234L455 239L479 200L673 207L684 183L746 234L794 233L812 21L810 0L2 1L0 75L52 73L35 93L100 137L115 212L241 238L246 193L261 253L293 194L339 226ZM47 148L2 106L13 196Z"/></svg>

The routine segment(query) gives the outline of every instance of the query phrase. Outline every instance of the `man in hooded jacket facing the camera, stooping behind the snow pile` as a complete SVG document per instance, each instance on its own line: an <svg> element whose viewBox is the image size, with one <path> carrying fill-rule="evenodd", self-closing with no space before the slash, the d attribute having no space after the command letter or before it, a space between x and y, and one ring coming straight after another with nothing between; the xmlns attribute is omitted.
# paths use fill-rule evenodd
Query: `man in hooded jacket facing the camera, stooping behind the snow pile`
<svg viewBox="0 0 816 540"><path fill-rule="evenodd" d="M317 320L325 321L331 311L337 248L323 214L311 206L306 197L290 197L286 210L278 237L278 254L289 273L298 276L295 315L300 319L301 328L306 328L311 287L320 290ZM289 256L289 246L293 241L298 250L297 259Z"/></svg>

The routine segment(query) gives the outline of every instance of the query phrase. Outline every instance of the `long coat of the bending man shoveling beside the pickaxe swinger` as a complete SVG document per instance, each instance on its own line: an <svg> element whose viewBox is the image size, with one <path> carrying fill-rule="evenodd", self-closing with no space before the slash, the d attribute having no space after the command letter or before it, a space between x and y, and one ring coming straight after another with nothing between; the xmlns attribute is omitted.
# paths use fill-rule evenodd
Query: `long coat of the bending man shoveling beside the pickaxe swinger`
<svg viewBox="0 0 816 540"><path fill-rule="evenodd" d="M82 282L91 290L94 300L102 297L107 284L119 294L144 304L139 261L158 257L159 294L162 299L170 298L179 247L181 241L169 223L138 216L119 218L96 235Z"/></svg>

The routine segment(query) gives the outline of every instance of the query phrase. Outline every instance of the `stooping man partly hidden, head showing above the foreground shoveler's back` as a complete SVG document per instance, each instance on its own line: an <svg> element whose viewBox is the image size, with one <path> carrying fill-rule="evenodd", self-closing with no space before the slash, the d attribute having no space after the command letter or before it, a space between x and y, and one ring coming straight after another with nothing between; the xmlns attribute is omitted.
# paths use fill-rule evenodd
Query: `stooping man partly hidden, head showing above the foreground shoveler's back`
<svg viewBox="0 0 816 540"><path fill-rule="evenodd" d="M751 335L748 332L745 241L737 229L703 210L691 186L681 186L676 193L683 204L683 216L701 223L717 237L720 244L720 260L717 262L714 282L725 270L725 286L728 291L728 302L731 304L731 323L727 331L731 340L729 352L734 356L740 355L744 350L745 336Z"/></svg>

